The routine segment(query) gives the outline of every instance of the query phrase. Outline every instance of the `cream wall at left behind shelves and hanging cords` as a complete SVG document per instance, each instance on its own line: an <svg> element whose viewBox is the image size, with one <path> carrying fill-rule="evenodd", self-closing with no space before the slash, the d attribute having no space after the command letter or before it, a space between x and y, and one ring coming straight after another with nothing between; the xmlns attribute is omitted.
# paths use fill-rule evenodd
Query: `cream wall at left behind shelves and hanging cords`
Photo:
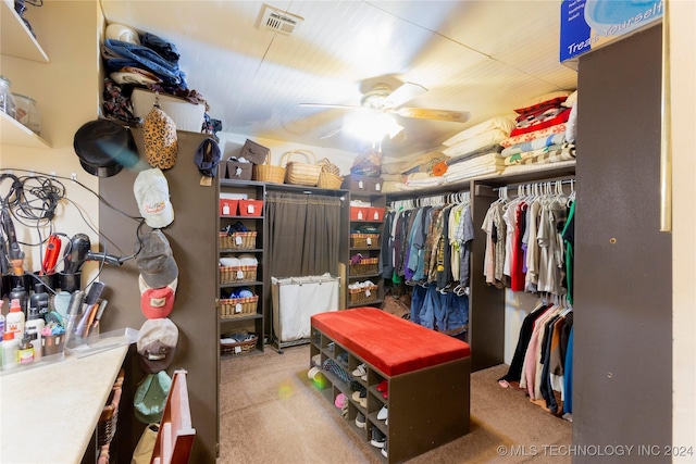
<svg viewBox="0 0 696 464"><path fill-rule="evenodd" d="M41 138L51 148L38 149L0 145L2 156L0 168L12 170L17 175L54 172L65 177L61 180L71 200L62 201L57 211L54 230L72 237L85 233L90 237L92 249L99 237L88 224L98 229L98 200L92 193L70 180L71 174L94 191L98 179L79 165L73 149L75 131L99 114L101 81L98 77L98 32L101 10L96 1L44 2L40 8L27 5L27 17L36 32L37 40L48 54L50 63L38 63L2 55L2 74L12 80L14 92L33 97L41 112ZM1 140L0 140L1 141ZM3 171L8 172L8 171ZM82 214L82 215L80 215ZM36 243L37 234L28 227L15 224L17 238ZM48 229L42 230L44 237ZM25 247L25 268L38 271L40 258L38 247ZM89 275L96 266L86 265Z"/></svg>

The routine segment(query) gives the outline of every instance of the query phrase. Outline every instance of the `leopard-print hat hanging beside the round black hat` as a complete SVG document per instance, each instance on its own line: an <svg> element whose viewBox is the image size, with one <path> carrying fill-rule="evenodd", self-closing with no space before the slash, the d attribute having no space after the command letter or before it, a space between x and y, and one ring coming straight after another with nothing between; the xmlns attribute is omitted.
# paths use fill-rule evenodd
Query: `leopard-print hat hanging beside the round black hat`
<svg viewBox="0 0 696 464"><path fill-rule="evenodd" d="M142 141L145 159L150 166L160 170L174 167L178 152L176 124L160 108L159 92L154 95L152 110L142 122Z"/></svg>

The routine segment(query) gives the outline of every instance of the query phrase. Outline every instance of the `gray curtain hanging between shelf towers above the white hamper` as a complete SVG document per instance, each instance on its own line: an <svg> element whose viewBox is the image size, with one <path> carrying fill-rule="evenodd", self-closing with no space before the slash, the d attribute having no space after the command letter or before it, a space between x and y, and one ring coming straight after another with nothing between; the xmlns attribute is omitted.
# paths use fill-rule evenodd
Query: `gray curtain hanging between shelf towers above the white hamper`
<svg viewBox="0 0 696 464"><path fill-rule="evenodd" d="M271 275L337 275L340 199L269 191L266 202Z"/></svg>

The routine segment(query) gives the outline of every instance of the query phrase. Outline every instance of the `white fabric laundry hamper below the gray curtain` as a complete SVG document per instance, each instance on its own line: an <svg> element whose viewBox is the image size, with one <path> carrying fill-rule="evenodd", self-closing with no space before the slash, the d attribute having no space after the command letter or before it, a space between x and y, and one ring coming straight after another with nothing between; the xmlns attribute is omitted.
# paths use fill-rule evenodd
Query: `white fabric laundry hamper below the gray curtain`
<svg viewBox="0 0 696 464"><path fill-rule="evenodd" d="M340 279L328 274L307 277L271 277L273 335L278 350L308 343L310 317L338 310Z"/></svg>

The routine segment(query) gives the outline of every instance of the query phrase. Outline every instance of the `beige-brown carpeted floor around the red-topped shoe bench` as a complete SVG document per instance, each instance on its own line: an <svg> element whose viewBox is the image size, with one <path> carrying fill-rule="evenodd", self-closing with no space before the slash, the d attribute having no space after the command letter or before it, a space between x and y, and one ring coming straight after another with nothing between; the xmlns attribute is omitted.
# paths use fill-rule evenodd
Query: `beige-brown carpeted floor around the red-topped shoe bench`
<svg viewBox="0 0 696 464"><path fill-rule="evenodd" d="M308 379L308 368L309 346L221 363L220 464L384 462ZM496 380L507 369L473 373L471 431L409 463L570 463L572 424L501 388Z"/></svg>

